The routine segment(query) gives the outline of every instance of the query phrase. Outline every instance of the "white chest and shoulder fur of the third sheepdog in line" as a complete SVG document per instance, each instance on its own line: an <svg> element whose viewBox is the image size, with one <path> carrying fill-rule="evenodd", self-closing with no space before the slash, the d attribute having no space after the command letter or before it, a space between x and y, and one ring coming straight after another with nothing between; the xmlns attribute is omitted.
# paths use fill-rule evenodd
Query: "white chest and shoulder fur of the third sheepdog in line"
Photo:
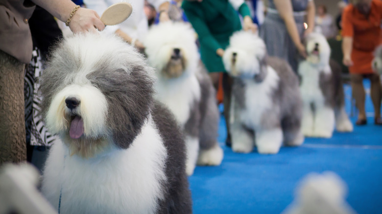
<svg viewBox="0 0 382 214"><path fill-rule="evenodd" d="M241 111L239 117L248 128L260 128L264 111L273 105L271 94L277 88L280 78L271 66L268 66L267 70L268 74L261 83L244 79L246 108Z"/></svg>

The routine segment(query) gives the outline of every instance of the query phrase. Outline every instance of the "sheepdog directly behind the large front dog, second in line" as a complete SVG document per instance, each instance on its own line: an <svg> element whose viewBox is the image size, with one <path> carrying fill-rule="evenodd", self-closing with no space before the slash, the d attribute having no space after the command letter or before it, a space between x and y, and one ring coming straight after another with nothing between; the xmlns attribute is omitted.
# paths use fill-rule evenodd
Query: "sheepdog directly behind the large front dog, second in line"
<svg viewBox="0 0 382 214"><path fill-rule="evenodd" d="M219 165L223 150L216 142L219 112L215 89L195 44L195 32L185 23L161 23L145 39L150 65L157 69L157 99L166 104L184 128L188 160L195 164Z"/></svg>

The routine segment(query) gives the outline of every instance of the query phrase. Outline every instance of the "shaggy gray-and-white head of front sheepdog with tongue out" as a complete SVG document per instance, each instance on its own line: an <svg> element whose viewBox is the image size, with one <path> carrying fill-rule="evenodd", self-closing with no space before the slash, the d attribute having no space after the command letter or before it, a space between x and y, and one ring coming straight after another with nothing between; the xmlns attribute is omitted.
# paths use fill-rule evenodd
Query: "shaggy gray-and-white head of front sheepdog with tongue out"
<svg viewBox="0 0 382 214"><path fill-rule="evenodd" d="M127 149L149 115L153 72L117 37L88 33L63 40L40 78L46 126L82 157L110 146Z"/></svg>

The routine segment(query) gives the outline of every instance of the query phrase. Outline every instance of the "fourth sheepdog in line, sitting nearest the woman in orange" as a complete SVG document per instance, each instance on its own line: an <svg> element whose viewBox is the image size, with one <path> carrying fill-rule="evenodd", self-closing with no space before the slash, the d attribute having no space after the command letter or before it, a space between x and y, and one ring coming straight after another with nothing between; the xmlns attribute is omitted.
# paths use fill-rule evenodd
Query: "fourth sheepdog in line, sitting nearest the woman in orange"
<svg viewBox="0 0 382 214"><path fill-rule="evenodd" d="M305 136L332 137L338 131L352 131L345 111L341 68L330 62L330 46L325 37L311 33L306 38L307 60L299 64L304 103L302 128Z"/></svg>

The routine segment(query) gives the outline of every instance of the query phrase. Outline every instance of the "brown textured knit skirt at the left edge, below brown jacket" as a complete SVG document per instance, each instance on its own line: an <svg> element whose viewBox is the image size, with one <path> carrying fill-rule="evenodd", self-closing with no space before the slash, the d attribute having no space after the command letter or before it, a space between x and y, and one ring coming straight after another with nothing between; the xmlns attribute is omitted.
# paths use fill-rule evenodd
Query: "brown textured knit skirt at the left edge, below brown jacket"
<svg viewBox="0 0 382 214"><path fill-rule="evenodd" d="M24 67L0 50L0 165L26 161Z"/></svg>

